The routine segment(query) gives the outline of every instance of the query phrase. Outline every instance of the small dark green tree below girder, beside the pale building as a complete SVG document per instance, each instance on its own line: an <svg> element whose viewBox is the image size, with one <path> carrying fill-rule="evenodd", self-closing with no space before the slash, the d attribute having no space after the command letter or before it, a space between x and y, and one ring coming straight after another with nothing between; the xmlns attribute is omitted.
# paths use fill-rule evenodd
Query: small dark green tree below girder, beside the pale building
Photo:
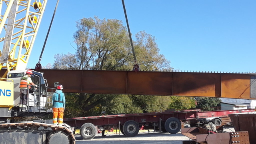
<svg viewBox="0 0 256 144"><path fill-rule="evenodd" d="M220 110L221 100L219 98L206 98L206 97L196 97L197 102L196 108L200 108L202 111L212 111Z"/></svg>

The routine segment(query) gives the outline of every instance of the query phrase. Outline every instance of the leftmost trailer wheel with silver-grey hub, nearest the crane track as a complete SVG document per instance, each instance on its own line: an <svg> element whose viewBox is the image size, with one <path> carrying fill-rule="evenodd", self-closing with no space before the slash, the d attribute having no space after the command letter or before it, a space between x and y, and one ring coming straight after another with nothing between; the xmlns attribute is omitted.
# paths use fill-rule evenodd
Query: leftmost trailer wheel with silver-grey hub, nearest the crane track
<svg viewBox="0 0 256 144"><path fill-rule="evenodd" d="M96 135L96 127L91 123L85 123L80 128L80 135L85 140L91 140Z"/></svg>

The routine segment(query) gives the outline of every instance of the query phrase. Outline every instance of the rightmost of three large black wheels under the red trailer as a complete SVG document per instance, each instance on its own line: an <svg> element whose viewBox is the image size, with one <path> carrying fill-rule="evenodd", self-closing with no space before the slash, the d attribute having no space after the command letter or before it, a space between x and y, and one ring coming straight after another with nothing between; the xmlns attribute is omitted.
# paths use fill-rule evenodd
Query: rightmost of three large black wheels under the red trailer
<svg viewBox="0 0 256 144"><path fill-rule="evenodd" d="M164 128L171 134L176 134L180 131L181 124L178 118L168 118L164 123Z"/></svg>

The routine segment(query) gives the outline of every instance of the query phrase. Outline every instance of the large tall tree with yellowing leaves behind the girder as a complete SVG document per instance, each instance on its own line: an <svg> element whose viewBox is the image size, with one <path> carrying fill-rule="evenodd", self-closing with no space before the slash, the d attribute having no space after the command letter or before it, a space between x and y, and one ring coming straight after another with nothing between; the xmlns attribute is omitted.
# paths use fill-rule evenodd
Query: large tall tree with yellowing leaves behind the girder
<svg viewBox="0 0 256 144"><path fill-rule="evenodd" d="M56 54L53 68L72 70L129 70L134 61L130 40L122 21L116 19L82 18L73 34L75 53ZM155 38L145 31L134 36L137 63L142 70L172 70L170 61L159 53ZM152 112L166 110L169 97L123 96L109 94L68 94L67 117ZM161 99L162 98L162 99ZM164 99L167 98L167 99ZM140 105L136 99L140 99ZM143 104L142 100L145 100ZM137 102L137 103L136 103Z"/></svg>

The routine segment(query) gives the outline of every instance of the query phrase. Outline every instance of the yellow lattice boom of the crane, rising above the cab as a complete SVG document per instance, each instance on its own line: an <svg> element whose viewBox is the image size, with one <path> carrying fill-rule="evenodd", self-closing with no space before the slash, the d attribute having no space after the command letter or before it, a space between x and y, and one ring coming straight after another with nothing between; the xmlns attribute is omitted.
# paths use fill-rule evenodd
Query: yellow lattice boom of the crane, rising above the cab
<svg viewBox="0 0 256 144"><path fill-rule="evenodd" d="M27 66L47 0L0 0L0 70ZM5 32L4 32L5 31Z"/></svg>

